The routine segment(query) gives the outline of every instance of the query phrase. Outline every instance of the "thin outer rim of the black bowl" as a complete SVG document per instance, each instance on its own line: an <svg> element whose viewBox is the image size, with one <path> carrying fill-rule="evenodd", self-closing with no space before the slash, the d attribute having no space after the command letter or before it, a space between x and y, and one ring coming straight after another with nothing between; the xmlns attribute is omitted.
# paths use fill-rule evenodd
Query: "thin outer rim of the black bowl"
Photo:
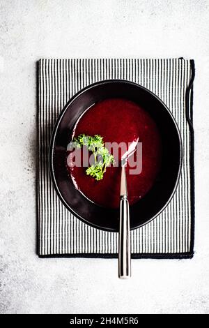
<svg viewBox="0 0 209 328"><path fill-rule="evenodd" d="M88 220L86 220L86 218L84 218L84 217L80 216L79 214L77 214L77 212L74 209L72 209L72 207L70 207L68 202L66 202L65 199L63 198L63 195L61 194L61 191L59 190L59 186L56 184L56 177L55 177L55 174L54 174L54 161L53 161L54 142L56 140L56 132L59 128L59 124L61 122L61 119L63 118L63 115L68 110L68 107L71 105L71 103L73 103L73 101L76 98L78 98L81 94L83 94L88 89L92 89L93 87L96 87L98 85L109 84L109 83L131 84L131 85L134 85L135 87L139 87L140 89L143 89L148 94L150 94L150 96L153 96L154 98L156 98L158 101L160 101L160 103L162 104L164 109L167 110L167 112L168 112L169 116L171 117L171 119L173 121L173 124L176 128L177 134L178 134L178 142L179 142L179 146L180 146L179 147L180 148L180 154L179 154L178 174L177 174L177 177L176 177L176 184L173 187L173 191L172 191L172 193L169 197L169 200L167 200L167 202L164 204L164 207L162 207L160 209L160 211L158 211L154 216L149 218L148 221L146 221L144 223L139 223L139 225L136 225L134 227L130 227L130 230L135 230L137 228L142 227L143 225L146 225L147 223L150 223L150 221L153 221L154 218L156 218L158 215L160 215L162 213L162 211L164 211L164 209L167 207L169 202L171 202L171 199L173 198L173 195L176 192L176 188L178 186L178 182L179 182L179 179L180 179L180 173L181 173L182 166L183 166L183 142L182 142L182 138L181 138L181 135L180 135L180 130L179 130L178 124L176 122L176 119L173 117L173 114L169 110L169 107L167 107L167 105L156 94L154 94L152 91L150 91L146 87L141 86L141 84L138 84L136 82L132 82L132 81L129 81L129 80L121 80L121 79L101 80L99 82L94 82L92 84L89 84L88 86L86 86L83 89L81 89L80 91L78 91L65 104L65 106L63 107L63 109L61 110L61 112L59 114L59 117L56 119L56 122L54 124L54 128L52 130L52 134L51 134L50 142L49 142L49 153L48 153L49 172L50 172L50 176L52 178L52 183L53 183L53 186L55 188L56 194L59 196L59 199L61 200L61 202L63 203L65 208L68 209L68 211L70 211L71 214L73 214L76 218L81 220L83 223L86 223L87 225L89 225L93 228L103 230L103 231L109 231L109 232L117 232L114 228L105 228L105 227L102 227L101 225L96 225L95 223L89 222Z"/></svg>

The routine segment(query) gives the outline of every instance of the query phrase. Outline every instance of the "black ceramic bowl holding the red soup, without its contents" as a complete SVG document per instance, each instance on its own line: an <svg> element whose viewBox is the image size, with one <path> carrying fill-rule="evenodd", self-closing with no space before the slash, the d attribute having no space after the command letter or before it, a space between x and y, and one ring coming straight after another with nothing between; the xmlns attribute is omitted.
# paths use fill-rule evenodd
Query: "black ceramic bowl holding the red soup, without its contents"
<svg viewBox="0 0 209 328"><path fill-rule="evenodd" d="M67 145L77 119L86 108L105 98L125 98L141 105L155 120L162 137L162 166L156 182L130 207L130 227L135 229L151 221L167 206L176 190L182 164L182 143L176 121L167 106L148 89L124 80L107 80L91 84L72 97L52 133L49 150L52 181L65 207L77 218L95 228L118 231L119 211L89 201L72 184L65 166Z"/></svg>

